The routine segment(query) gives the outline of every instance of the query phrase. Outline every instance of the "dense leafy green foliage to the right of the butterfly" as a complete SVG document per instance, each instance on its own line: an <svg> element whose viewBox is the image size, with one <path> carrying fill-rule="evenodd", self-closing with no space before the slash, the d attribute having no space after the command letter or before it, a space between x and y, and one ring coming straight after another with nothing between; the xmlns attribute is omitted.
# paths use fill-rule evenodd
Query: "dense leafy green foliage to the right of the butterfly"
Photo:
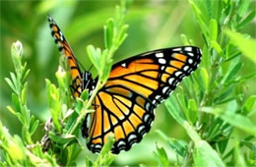
<svg viewBox="0 0 256 167"><path fill-rule="evenodd" d="M242 143L246 139L248 144L255 144L256 125L251 118L255 95L247 96L242 86L255 77L255 72L241 77L244 66L239 60L246 56L255 63L256 45L254 39L234 31L246 26L255 11L249 11L249 1L189 3L205 45L198 70L165 102L191 139L185 146L171 139L170 147L184 159L185 166L253 165L255 150L243 148ZM184 44L192 44L184 34L181 37Z"/></svg>

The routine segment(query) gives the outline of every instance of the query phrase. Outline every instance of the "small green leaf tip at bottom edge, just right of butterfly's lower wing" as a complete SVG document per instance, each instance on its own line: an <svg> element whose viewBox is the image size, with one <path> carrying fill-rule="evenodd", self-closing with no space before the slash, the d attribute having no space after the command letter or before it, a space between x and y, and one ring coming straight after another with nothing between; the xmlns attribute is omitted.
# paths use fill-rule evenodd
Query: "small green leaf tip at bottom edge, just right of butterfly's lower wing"
<svg viewBox="0 0 256 167"><path fill-rule="evenodd" d="M157 144L157 151L154 151L153 154L158 160L158 166L169 166L168 157L163 147L159 147Z"/></svg>

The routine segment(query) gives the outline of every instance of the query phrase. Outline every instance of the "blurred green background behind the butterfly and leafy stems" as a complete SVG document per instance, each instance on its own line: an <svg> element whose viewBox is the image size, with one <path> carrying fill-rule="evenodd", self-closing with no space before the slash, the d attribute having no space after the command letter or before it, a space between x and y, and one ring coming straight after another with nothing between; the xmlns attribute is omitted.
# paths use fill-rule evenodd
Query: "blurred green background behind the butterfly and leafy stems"
<svg viewBox="0 0 256 167"><path fill-rule="evenodd" d="M20 40L24 44L24 60L31 69L29 76L29 107L33 115L40 121L40 131L33 135L39 140L44 135L44 122L49 118L47 110L45 79L57 83L55 72L58 69L58 49L48 28L47 15L53 17L64 32L77 59L88 70L90 62L86 48L93 44L103 48L103 25L105 21L114 16L114 8L119 1L1 1L1 55L0 55L0 119L12 135L21 132L21 125L6 108L11 105L11 88L4 78L14 71L11 58L11 44ZM254 5L250 8L255 8ZM188 1L135 1L130 7L126 18L129 25L128 37L124 44L114 55L114 62L118 62L133 55L163 48L182 45L180 34L184 33L193 39L196 46L203 45L201 31L195 21ZM242 29L255 38L255 20ZM245 66L242 74L255 71L254 64L242 57ZM254 67L253 69L251 67ZM92 70L96 77L96 69ZM247 84L246 93L255 94L255 81ZM161 130L169 138L188 140L182 127L180 127L165 111L163 104L158 107L156 121L151 132L130 151L118 155L113 165L157 164L153 151L158 145L166 145L156 130ZM168 150L169 157L175 161L175 154ZM85 148L78 158L79 164L85 163L85 156L95 159Z"/></svg>

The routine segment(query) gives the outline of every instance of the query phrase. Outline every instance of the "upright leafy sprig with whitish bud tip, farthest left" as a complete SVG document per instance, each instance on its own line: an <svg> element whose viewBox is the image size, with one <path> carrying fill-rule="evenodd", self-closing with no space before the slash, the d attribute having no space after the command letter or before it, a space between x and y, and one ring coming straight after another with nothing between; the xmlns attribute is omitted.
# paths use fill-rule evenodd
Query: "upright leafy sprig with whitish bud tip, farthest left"
<svg viewBox="0 0 256 167"><path fill-rule="evenodd" d="M30 70L27 70L27 63L22 63L23 45L20 41L17 41L12 45L11 52L16 74L10 73L11 80L6 78L5 81L14 91L12 94L12 100L15 109L11 106L7 106L7 108L12 114L17 116L19 121L22 123L23 140L25 143L31 144L32 134L37 128L39 121L35 120L35 118L31 116L31 111L27 106L28 83L26 82L26 79Z"/></svg>

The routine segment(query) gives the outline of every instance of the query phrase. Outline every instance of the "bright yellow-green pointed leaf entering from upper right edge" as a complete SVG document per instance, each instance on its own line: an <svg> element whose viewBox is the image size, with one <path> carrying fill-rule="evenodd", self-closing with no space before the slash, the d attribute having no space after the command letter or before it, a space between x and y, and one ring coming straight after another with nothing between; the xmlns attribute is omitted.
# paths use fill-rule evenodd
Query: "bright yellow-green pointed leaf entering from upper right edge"
<svg viewBox="0 0 256 167"><path fill-rule="evenodd" d="M245 38L241 33L225 29L224 32L229 36L233 43L241 50L244 56L256 64L256 41L255 39Z"/></svg>

